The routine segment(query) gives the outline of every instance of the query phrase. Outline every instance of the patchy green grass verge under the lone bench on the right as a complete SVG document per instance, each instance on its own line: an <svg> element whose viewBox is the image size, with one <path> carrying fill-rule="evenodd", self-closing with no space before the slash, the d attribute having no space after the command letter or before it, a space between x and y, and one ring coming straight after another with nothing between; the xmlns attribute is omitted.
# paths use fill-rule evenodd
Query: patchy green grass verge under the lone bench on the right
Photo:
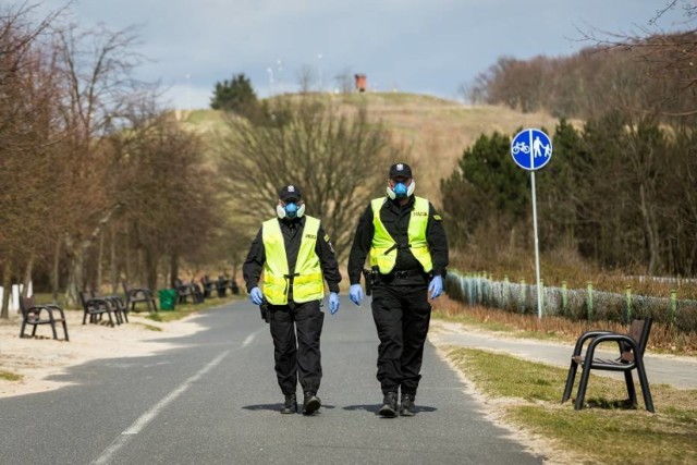
<svg viewBox="0 0 697 465"><path fill-rule="evenodd" d="M657 413L650 414L640 387L639 407L629 408L623 381L591 375L591 407L575 411L573 395L560 403L566 369L470 348L450 350L448 357L485 395L509 401L500 407L504 420L551 439L560 450L591 463L697 463L697 390L651 386Z"/></svg>

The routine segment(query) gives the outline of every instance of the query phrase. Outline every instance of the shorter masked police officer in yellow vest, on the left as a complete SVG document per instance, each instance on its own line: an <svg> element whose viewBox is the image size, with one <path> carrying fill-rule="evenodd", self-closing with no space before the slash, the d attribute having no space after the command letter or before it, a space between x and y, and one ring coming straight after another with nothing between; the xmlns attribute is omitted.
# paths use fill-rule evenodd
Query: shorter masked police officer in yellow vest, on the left
<svg viewBox="0 0 697 465"><path fill-rule="evenodd" d="M252 243L242 271L255 305L269 304L276 375L285 396L281 413L297 412L296 386L303 388L303 413L314 414L322 377L319 339L325 314L320 303L329 286L329 311L339 310L339 265L329 236L317 218L305 213L297 186L284 186L278 218L265 221ZM264 271L264 291L259 279ZM297 333L297 338L296 338Z"/></svg>

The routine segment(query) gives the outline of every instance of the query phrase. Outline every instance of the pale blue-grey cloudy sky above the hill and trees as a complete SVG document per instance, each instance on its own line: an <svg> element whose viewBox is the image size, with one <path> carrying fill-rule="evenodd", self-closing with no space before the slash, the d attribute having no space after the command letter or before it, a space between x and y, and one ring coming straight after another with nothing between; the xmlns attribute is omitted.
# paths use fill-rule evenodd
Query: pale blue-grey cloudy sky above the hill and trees
<svg viewBox="0 0 697 465"><path fill-rule="evenodd" d="M7 0L3 0L5 3ZM38 1L37 1L38 2ZM11 1L11 4L16 3ZM45 0L44 11L68 1ZM582 33L687 28L668 0L78 0L73 21L111 29L139 25L166 103L208 108L216 82L244 73L259 97L298 89L301 70L331 91L364 73L371 90L457 99L457 88L500 57L568 56Z"/></svg>

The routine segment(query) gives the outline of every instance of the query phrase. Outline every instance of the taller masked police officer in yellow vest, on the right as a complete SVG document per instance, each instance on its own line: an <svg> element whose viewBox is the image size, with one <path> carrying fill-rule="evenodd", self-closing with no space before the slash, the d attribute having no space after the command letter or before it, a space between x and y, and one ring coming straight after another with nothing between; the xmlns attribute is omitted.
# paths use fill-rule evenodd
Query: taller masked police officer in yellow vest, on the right
<svg viewBox="0 0 697 465"><path fill-rule="evenodd" d="M348 257L348 295L356 305L364 297L359 283L366 257L370 260L383 417L415 413L431 311L428 294L442 293L448 267L441 217L427 199L414 196L415 188L408 164L390 168L388 195L370 201L360 217Z"/></svg>

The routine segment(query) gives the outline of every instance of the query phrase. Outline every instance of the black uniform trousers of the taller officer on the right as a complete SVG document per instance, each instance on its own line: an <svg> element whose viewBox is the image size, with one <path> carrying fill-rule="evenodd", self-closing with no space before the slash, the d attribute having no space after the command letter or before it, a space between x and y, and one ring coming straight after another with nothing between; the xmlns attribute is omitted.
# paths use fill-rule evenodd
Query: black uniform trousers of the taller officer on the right
<svg viewBox="0 0 697 465"><path fill-rule="evenodd" d="M371 307L380 339L377 378L382 392L402 388L402 394L416 395L431 317L428 283L376 283Z"/></svg>

